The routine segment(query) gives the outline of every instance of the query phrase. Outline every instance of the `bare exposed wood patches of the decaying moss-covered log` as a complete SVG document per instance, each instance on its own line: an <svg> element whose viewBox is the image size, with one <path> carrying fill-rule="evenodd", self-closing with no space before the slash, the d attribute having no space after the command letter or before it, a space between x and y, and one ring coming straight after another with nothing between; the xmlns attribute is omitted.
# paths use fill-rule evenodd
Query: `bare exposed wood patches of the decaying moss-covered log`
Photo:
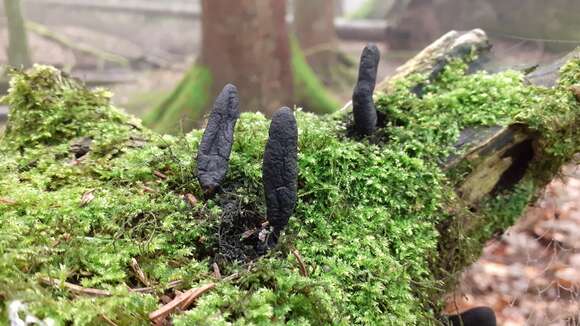
<svg viewBox="0 0 580 326"><path fill-rule="evenodd" d="M413 74L425 74L433 80L450 60L463 59L469 62L467 58L473 54L479 56L479 59L472 62L469 68L472 72L476 71L490 48L487 35L482 30L451 31L399 67L394 75L377 85L377 90L388 93L392 91L397 80ZM575 55L578 53L569 54L554 64L538 68L528 79L537 85L554 86L559 68ZM421 85L415 86L413 91L420 95ZM466 129L462 131L455 145L462 154L447 158L443 167L446 171L452 171L466 163L472 167L456 187L467 205L475 207L486 196L510 189L523 178L535 159L534 142L537 136L522 124Z"/></svg>

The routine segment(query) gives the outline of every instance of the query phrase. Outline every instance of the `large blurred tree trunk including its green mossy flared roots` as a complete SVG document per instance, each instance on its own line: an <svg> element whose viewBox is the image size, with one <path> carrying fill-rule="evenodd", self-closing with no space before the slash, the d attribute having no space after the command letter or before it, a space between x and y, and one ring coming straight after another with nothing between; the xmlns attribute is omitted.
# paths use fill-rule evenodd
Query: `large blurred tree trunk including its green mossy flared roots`
<svg viewBox="0 0 580 326"><path fill-rule="evenodd" d="M163 132L198 126L227 83L238 87L242 111L272 114L299 105L317 113L339 107L289 39L286 1L202 1L202 51L175 90L145 123Z"/></svg>

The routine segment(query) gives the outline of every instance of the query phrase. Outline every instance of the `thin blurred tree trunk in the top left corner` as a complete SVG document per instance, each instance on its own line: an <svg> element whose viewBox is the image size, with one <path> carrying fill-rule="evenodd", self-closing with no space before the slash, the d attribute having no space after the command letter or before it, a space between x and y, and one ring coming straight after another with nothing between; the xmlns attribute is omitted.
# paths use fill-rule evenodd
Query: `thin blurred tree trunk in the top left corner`
<svg viewBox="0 0 580 326"><path fill-rule="evenodd" d="M20 0L4 0L4 10L8 22L8 63L13 67L30 67L32 61Z"/></svg>

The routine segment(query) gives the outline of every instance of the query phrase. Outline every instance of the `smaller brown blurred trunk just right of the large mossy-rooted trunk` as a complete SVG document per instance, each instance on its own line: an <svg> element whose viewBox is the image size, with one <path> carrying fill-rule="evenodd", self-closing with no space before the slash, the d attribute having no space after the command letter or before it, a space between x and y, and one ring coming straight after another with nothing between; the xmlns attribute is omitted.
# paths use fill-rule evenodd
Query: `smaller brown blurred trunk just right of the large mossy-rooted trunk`
<svg viewBox="0 0 580 326"><path fill-rule="evenodd" d="M334 28L334 0L295 0L294 31L312 69L331 80L338 64L338 37Z"/></svg>

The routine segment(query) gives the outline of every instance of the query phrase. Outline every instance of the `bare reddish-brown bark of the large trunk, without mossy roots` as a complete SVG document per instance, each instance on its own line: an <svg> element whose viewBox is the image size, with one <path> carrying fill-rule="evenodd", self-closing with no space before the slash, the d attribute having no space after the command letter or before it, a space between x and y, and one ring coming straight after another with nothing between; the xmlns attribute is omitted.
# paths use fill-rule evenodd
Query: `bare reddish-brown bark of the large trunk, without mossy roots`
<svg viewBox="0 0 580 326"><path fill-rule="evenodd" d="M211 94L227 83L243 111L273 113L292 99L286 1L202 1L200 63L212 74Z"/></svg>

